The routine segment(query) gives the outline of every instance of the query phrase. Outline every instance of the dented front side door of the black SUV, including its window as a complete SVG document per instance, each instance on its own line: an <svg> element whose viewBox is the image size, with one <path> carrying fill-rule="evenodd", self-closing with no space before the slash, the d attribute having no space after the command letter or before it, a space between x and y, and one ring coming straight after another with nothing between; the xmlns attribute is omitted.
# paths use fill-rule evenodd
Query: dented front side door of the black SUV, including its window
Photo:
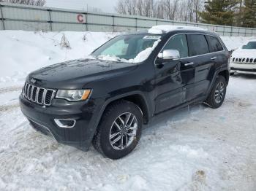
<svg viewBox="0 0 256 191"><path fill-rule="evenodd" d="M189 55L186 34L178 34L171 37L165 47L159 52L160 55L167 50L178 50L180 58ZM189 74L192 70L187 69L181 63L181 59L157 58L155 78L155 113L179 106L186 101L186 85L194 77Z"/></svg>

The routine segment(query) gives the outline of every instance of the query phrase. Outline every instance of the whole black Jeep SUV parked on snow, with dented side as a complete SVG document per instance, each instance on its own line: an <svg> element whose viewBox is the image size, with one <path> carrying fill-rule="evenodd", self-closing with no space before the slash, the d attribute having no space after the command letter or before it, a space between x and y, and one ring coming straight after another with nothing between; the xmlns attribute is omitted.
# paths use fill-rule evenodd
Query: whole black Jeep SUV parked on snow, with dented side
<svg viewBox="0 0 256 191"><path fill-rule="evenodd" d="M143 124L169 109L218 108L229 80L225 44L210 31L177 27L116 36L91 58L32 72L20 95L31 125L62 144L111 159L132 152Z"/></svg>

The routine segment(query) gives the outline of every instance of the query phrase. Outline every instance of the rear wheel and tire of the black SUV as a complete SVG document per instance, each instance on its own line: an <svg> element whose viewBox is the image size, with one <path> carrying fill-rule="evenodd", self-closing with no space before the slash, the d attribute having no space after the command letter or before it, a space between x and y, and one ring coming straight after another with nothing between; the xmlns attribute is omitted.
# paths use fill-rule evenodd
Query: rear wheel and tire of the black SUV
<svg viewBox="0 0 256 191"><path fill-rule="evenodd" d="M225 100L227 82L225 77L219 76L214 82L214 86L211 89L211 93L206 99L206 104L211 106L213 109L217 109L222 106L223 101Z"/></svg>

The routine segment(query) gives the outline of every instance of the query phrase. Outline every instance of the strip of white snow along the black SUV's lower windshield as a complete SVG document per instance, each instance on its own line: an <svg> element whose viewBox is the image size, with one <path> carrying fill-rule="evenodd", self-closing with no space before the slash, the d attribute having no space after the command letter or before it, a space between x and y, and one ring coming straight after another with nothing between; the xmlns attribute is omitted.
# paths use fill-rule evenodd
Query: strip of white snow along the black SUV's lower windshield
<svg viewBox="0 0 256 191"><path fill-rule="evenodd" d="M145 50L141 51L138 53L138 55L133 58L133 59L124 59L124 58L118 58L114 55L99 55L97 58L99 60L104 60L104 61L117 61L117 62L127 62L127 63L140 63L142 61L145 61L148 56L151 54L151 52L154 50L155 47L157 47L157 44L159 44L161 40L157 40L154 42L152 47L148 47Z"/></svg>

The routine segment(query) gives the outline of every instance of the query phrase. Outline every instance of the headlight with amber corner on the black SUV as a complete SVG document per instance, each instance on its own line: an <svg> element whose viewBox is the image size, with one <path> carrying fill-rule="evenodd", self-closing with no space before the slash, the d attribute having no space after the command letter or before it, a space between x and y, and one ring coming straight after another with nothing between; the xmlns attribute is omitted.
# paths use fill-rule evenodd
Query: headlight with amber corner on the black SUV
<svg viewBox="0 0 256 191"><path fill-rule="evenodd" d="M58 90L56 98L66 99L67 101L81 101L89 98L91 90Z"/></svg>

